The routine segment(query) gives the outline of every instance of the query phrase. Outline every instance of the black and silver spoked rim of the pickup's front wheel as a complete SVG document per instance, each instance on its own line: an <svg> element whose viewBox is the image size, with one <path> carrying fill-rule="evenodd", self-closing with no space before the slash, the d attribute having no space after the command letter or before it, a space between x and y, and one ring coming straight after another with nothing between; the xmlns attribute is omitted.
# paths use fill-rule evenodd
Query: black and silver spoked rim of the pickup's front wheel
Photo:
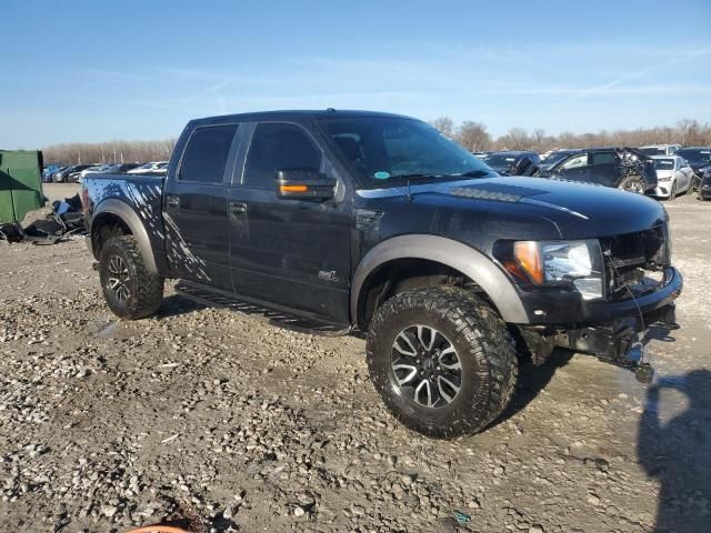
<svg viewBox="0 0 711 533"><path fill-rule="evenodd" d="M462 386L462 365L454 345L430 325L410 325L398 333L391 368L393 384L423 408L449 405Z"/></svg>

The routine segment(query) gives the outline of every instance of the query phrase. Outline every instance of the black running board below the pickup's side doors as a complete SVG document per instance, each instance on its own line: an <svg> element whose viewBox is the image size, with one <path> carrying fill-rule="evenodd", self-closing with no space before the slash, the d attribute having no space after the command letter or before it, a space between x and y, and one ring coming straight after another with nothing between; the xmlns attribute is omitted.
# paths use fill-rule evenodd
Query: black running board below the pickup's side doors
<svg viewBox="0 0 711 533"><path fill-rule="evenodd" d="M176 285L176 292L187 300L207 305L209 308L229 309L237 313L258 316L278 325L299 333L309 333L321 336L341 336L351 332L349 324L326 322L314 316L301 316L283 309L268 306L261 302L237 294L217 292L189 281L180 281Z"/></svg>

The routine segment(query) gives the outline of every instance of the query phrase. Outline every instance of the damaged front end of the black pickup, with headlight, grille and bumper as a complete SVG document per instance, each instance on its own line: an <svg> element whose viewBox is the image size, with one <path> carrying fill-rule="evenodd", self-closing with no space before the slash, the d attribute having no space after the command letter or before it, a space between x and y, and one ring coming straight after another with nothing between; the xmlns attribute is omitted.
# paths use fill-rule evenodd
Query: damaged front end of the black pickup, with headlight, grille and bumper
<svg viewBox="0 0 711 533"><path fill-rule="evenodd" d="M513 254L500 259L517 279L529 315L519 329L533 360L542 362L561 346L637 369L648 381L640 335L678 328L674 300L683 286L671 265L668 223L578 242L588 251L568 244L561 255L565 247L544 243L538 254L524 254L514 244Z"/></svg>

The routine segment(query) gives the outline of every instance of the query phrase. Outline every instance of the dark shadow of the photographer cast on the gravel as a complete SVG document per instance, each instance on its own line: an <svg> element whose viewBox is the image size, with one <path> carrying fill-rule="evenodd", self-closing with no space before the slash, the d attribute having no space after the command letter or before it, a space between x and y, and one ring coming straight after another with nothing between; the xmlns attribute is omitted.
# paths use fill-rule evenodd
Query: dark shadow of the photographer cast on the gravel
<svg viewBox="0 0 711 533"><path fill-rule="evenodd" d="M648 389L637 451L647 475L661 485L653 531L709 531L710 445L711 371L661 378Z"/></svg>

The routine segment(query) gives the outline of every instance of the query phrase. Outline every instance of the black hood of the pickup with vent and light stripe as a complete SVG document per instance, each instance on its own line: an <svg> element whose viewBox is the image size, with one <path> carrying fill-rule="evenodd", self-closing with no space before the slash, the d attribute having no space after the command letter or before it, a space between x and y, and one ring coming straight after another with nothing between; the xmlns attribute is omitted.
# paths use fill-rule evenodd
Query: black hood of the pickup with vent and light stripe
<svg viewBox="0 0 711 533"><path fill-rule="evenodd" d="M363 198L408 197L403 187L361 190ZM617 189L559 179L500 177L412 185L412 204L477 212L525 212L553 223L563 239L592 239L642 231L668 220L650 198Z"/></svg>

